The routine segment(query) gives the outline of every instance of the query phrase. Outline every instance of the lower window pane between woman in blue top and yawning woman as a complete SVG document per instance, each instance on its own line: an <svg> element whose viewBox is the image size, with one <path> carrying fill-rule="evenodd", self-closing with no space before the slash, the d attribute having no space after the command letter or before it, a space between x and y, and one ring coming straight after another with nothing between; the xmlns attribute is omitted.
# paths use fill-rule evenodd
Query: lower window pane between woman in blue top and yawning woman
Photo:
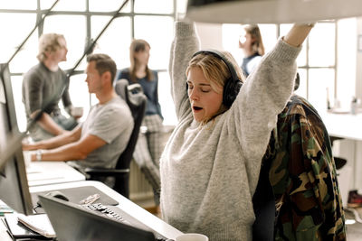
<svg viewBox="0 0 362 241"><path fill-rule="evenodd" d="M158 72L158 101L162 116L164 116L164 125L176 125L175 105L171 97L171 80L167 71Z"/></svg>

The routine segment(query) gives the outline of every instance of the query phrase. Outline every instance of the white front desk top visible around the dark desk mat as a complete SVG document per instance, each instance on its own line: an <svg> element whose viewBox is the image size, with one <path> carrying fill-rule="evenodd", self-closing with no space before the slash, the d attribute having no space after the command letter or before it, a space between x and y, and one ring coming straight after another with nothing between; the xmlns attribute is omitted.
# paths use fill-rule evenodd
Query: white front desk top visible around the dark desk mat
<svg viewBox="0 0 362 241"><path fill-rule="evenodd" d="M103 191L105 194L109 195L112 199L115 199L119 202L119 205L117 206L119 207L119 209L122 209L123 211L127 212L131 217L138 219L138 221L142 222L144 225L153 229L162 236L166 236L167 238L171 239L176 239L176 236L180 236L183 234L175 227L168 225L160 218L157 218L155 215L149 213L146 209L142 209L137 204L135 204L129 199L126 199L125 197L120 195L117 191L110 189L110 187L108 187L107 185L103 184L100 181L69 182L62 184L30 187L29 190L31 193L33 193L39 191L62 190L62 189L84 187L84 186L94 186L95 188Z"/></svg>

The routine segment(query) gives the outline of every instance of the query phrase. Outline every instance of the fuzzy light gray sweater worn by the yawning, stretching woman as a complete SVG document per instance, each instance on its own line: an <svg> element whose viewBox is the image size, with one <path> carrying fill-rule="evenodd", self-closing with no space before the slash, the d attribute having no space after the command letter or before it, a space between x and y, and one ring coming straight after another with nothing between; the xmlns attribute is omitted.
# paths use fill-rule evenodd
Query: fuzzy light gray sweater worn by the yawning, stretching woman
<svg viewBox="0 0 362 241"><path fill-rule="evenodd" d="M195 122L186 66L199 43L192 23L176 23L170 75L178 125L161 157L161 210L183 232L252 240L252 195L277 115L291 97L300 48L279 40L243 84L233 106Z"/></svg>

